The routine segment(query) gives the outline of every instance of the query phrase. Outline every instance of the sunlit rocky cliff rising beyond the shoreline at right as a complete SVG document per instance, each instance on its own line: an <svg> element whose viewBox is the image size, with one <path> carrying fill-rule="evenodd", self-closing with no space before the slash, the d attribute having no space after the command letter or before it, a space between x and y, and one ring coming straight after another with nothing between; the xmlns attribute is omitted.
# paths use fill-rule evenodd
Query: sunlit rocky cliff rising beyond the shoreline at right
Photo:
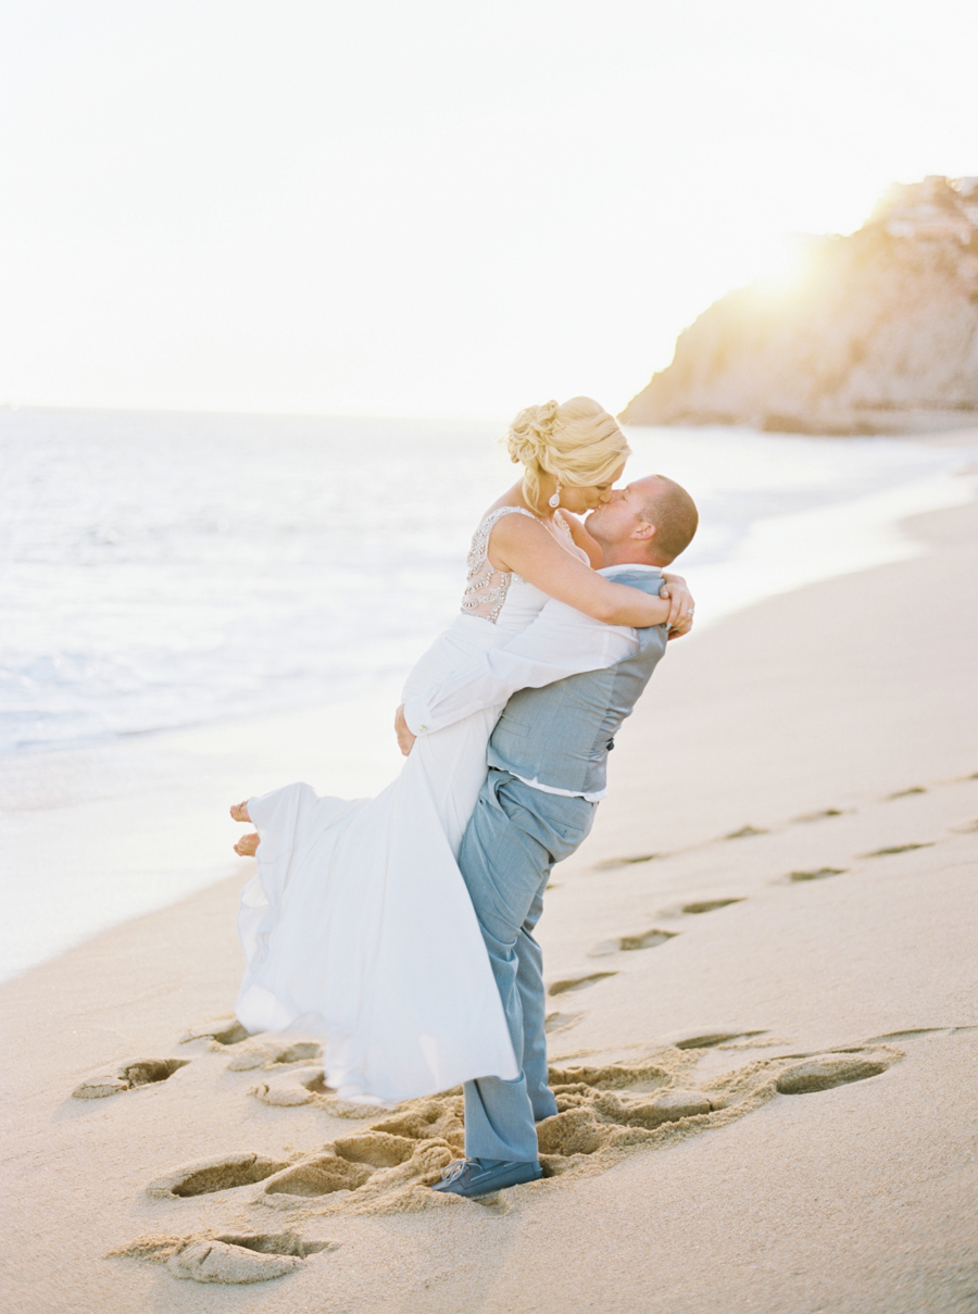
<svg viewBox="0 0 978 1314"><path fill-rule="evenodd" d="M978 179L895 187L850 237L811 239L686 328L631 424L875 434L978 422Z"/></svg>

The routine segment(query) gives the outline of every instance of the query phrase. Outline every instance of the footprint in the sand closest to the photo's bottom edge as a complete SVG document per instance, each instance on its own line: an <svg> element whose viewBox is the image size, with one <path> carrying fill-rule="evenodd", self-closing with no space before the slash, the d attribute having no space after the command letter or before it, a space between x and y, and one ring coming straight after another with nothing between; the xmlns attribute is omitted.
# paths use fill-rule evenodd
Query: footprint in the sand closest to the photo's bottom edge
<svg viewBox="0 0 978 1314"><path fill-rule="evenodd" d="M195 1282L267 1282L302 1268L309 1255L335 1250L334 1242L304 1240L294 1233L244 1235L141 1236L106 1259L166 1264L174 1277Z"/></svg>

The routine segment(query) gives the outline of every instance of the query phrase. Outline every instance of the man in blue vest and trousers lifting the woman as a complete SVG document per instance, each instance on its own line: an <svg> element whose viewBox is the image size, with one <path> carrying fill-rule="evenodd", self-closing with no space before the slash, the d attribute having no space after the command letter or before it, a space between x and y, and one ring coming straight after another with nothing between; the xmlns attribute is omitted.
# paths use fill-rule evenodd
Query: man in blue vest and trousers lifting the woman
<svg viewBox="0 0 978 1314"><path fill-rule="evenodd" d="M660 474L589 516L602 574L657 594L661 568L690 543L697 509ZM461 841L468 886L521 1064L513 1081L467 1081L465 1155L434 1189L484 1196L542 1176L535 1122L557 1112L547 1085L543 955L532 937L555 862L586 838L614 736L665 652L666 627L613 627L551 599L523 633L398 710L408 752L472 712L506 703L489 740L489 777Z"/></svg>

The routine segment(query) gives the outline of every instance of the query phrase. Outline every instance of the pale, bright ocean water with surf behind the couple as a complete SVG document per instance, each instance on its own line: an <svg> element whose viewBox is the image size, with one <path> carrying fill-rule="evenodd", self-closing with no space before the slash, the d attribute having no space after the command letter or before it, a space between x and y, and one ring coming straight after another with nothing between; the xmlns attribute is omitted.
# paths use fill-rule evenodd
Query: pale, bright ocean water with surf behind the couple
<svg viewBox="0 0 978 1314"><path fill-rule="evenodd" d="M397 771L400 683L515 478L482 422L0 410L0 978L250 865L227 804ZM915 556L978 451L634 430L701 510L697 632ZM695 633L684 643L695 643Z"/></svg>

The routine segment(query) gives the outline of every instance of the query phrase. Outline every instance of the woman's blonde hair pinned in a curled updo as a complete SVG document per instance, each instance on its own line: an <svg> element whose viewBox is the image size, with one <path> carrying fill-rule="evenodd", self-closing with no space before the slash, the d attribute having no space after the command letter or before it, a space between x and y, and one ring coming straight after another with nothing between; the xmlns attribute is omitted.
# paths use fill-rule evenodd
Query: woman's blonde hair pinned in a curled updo
<svg viewBox="0 0 978 1314"><path fill-rule="evenodd" d="M523 465L523 497L532 507L540 495L540 474L552 474L570 487L609 484L631 456L614 415L590 397L527 406L506 434L514 465Z"/></svg>

